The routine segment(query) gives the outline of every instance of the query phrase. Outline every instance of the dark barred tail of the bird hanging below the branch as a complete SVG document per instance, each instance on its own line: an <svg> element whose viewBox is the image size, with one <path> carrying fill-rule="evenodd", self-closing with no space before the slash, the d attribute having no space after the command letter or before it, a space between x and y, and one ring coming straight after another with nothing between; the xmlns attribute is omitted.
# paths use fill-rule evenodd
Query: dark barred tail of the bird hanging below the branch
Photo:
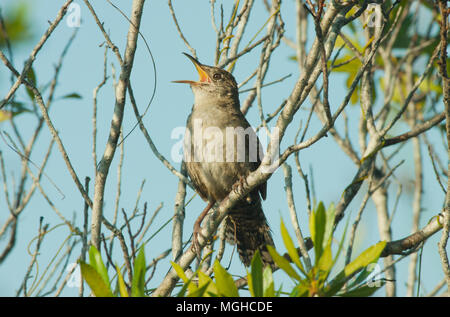
<svg viewBox="0 0 450 317"><path fill-rule="evenodd" d="M249 266L256 250L259 250L263 265L273 267L267 245L273 246L272 234L261 206L259 195L251 200L238 202L226 218L225 235L228 243L236 244L239 257Z"/></svg>

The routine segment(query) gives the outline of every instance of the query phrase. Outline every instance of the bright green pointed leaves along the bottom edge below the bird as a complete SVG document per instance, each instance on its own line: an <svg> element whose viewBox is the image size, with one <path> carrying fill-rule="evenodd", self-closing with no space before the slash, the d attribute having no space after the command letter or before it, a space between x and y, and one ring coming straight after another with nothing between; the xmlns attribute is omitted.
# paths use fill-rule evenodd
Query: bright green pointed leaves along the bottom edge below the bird
<svg viewBox="0 0 450 317"><path fill-rule="evenodd" d="M367 282L367 279L372 273L371 264L378 261L386 242L382 241L369 247L330 279L333 270L337 269L337 259L345 238L344 232L338 250L333 255L333 224L334 206L331 205L326 210L323 203L319 203L310 217L309 229L314 243L315 261L314 266L307 271L294 241L281 221L280 231L288 256L281 255L272 246L267 246L267 249L275 264L293 281L294 286L289 292L282 291L281 288L276 290L272 269L270 266L263 267L260 253L257 251L246 276L250 295L252 297L277 297L285 294L294 297L372 295L383 283L375 285ZM231 274L217 260L213 266L212 278L200 269L188 278L178 264L172 262L172 266L183 281L178 296L240 296Z"/></svg>

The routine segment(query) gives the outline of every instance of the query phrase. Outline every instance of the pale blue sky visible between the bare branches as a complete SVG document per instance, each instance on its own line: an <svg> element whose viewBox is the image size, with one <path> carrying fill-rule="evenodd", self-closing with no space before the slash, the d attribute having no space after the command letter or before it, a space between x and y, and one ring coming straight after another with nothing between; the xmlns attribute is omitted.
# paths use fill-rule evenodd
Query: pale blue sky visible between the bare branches
<svg viewBox="0 0 450 317"><path fill-rule="evenodd" d="M24 2L27 2L30 6L31 28L32 33L35 36L30 42L14 48L14 61L15 66L18 69L22 68L23 61L27 58L40 36L47 29L47 21L54 19L60 5L60 2L56 1L50 2L41 0ZM225 3L225 17L227 17L229 16L231 9L227 5L228 1L222 2ZM15 1L13 0L4 0L2 1L1 6L2 8L8 8L8 6L13 5L14 3ZM80 4L82 23L78 30L77 37L65 58L64 66L59 77L56 97L76 92L82 96L82 99L56 100L51 109L51 117L66 149L68 150L69 157L79 177L84 179L85 176L90 176L91 179L93 179L94 163L91 154L92 91L102 80L104 55L104 46L102 44L104 38L82 1L75 1L75 3ZM127 15L129 14L131 6L129 2L119 3L116 1L116 3ZM221 1L218 1L217 7L219 7L220 3ZM126 33L128 31L127 21L106 1L92 1L92 4L101 21L105 23L105 29L109 32L113 42L119 47L120 52L123 52ZM215 33L211 28L209 2L174 1L174 9L185 36L191 46L197 51L199 60L205 64L212 64L216 42ZM285 1L281 13L286 24L286 35L289 38L294 38L295 36L294 12L294 1ZM243 43L247 43L252 38L257 30L265 23L267 18L268 14L262 5L262 1L258 2L255 6L255 10L252 12L251 23L247 28L247 35L244 37ZM74 29L69 27L66 22L67 20L64 20L61 25L58 26L55 33L39 52L37 60L33 65L37 73L38 84L41 87L51 80L54 72L54 64L58 61L63 47L74 31ZM188 50L176 32L166 1L148 1L146 3L142 17L141 32L150 44L157 72L156 95L148 114L144 118L144 124L151 134L158 150L178 168L179 163L173 162L170 157L172 146L177 142L177 140L171 138L171 133L173 129L185 125L186 118L192 106L193 96L187 85L173 84L171 81L179 79L195 79L197 78L197 74L189 60L181 54L182 52L188 52ZM310 38L312 35L313 34L310 32ZM254 54L246 55L237 62L236 70L234 72L237 82L243 81L254 70L255 65L259 62L258 53L259 49L256 49ZM267 82L277 80L288 74L292 74L292 76L282 83L264 88L263 107L266 113L273 112L280 105L284 98L288 96L298 78L299 71L297 64L288 58L293 54L294 52L285 44L281 44L273 54L270 69L266 77ZM106 144L114 106L111 77L112 63L115 65L117 72L116 76L118 76L120 68L118 67L115 56L109 52L107 70L109 79L98 94L97 146L99 157ZM148 51L145 49L144 43L140 39L131 82L141 112L147 106L155 85L153 78L154 69L152 67L152 62ZM337 108L345 96L346 88L344 82L345 77L342 75L338 74L331 77L330 102L332 110ZM4 96L9 90L9 87L9 73L2 64L0 66L0 94ZM241 100L243 100L245 96L246 94L242 94ZM26 98L26 93L21 89L17 99L26 100ZM309 102L306 102L303 105L303 109L306 110L300 110L295 116L294 122L287 131L288 133L282 143L282 147L283 145L285 146L286 144L291 144L293 142L298 125L300 122L303 122L303 124L305 122L309 106ZM359 106L349 108L347 114L352 133L357 131L360 110ZM259 114L256 107L251 108L247 118L253 126L259 125ZM24 114L17 122L19 123L19 126L23 128L25 139L28 139L35 126L33 116ZM123 123L125 133L128 133L133 128L135 122L136 119L130 104L127 103ZM10 131L10 126L7 123L3 122L0 123L0 125L2 130ZM271 124L269 124L269 126L271 126ZM337 126L342 127L342 119L338 120ZM321 125L318 120L313 119L307 137L314 135L320 128ZM401 133L405 131L405 129L404 126L399 125L394 129L393 133ZM354 133L352 136L354 144L357 144L357 138ZM436 142L439 142L440 140L436 137L437 135L434 135L433 133L430 134L432 140L437 140ZM44 131L39 138L38 146L32 157L34 161L40 162L42 160L50 138L48 129L44 128ZM0 149L5 157L7 173L14 173L17 176L20 167L19 157L14 152L8 150L3 143L0 144ZM139 207L142 208L143 203L147 202L148 210L152 212L161 202L164 204L151 227L152 229L149 231L149 235L151 235L173 215L174 198L178 180L160 163L159 160L155 158L139 129L136 129L126 139L125 151L120 207L124 208L127 212L133 210L139 188L144 180L145 186L142 191ZM408 182L411 180L411 175L413 175L411 145L406 145L401 153L402 155L400 155L401 157L398 161L404 158L406 159L406 162L399 168L396 175L400 181L404 182L404 186L407 186ZM105 215L109 219L112 218L116 194L117 154L110 170L105 195ZM431 163L425 150L423 151L423 154L426 169L425 196L423 200L425 210L421 218L421 225L426 224L427 221L440 210L443 201L443 194L436 184L434 174L431 170ZM356 166L354 166L354 164L342 153L331 137L325 138L316 143L313 147L302 151L300 153L300 160L305 171L309 172L310 168L312 169L313 175L310 175L309 177L313 177L316 197L318 200L324 201L326 205L339 200L344 188L351 182L351 179L356 172ZM396 161L395 164L398 163L398 161ZM296 172L292 158L288 160L288 162L293 166L293 173L295 174ZM48 177L57 184L65 197L63 198L51 182L44 178L42 180L42 186L47 194L67 218L72 219L73 217L76 217L77 223L81 225L83 202L67 172L61 154L56 148L50 158L46 173L48 174ZM293 186L295 202L299 213L298 217L304 234L307 235L308 229L304 185L298 177L295 177ZM91 188L92 187L93 182L91 182ZM347 209L347 215L350 215L351 217L350 223L356 216L361 201L361 194L364 194L363 190ZM389 202L390 208L393 206L396 190L396 186L391 186L390 197L392 198ZM283 173L281 169L270 178L268 183L268 193L268 198L266 202L264 202L263 208L272 228L275 243L281 250L284 250L279 235L279 224L280 217L285 220L289 219L289 213L285 199ZM190 198L192 194L192 191L189 190L187 197ZM411 205L411 195L404 194L400 200L399 210L397 211L393 222L394 239L402 238L410 233ZM7 209L4 208L3 198L0 200L0 206L2 206L1 209L4 210L4 212L0 213L1 223L1 221L7 217ZM195 197L192 203L187 207L184 233L185 239L189 238L193 223L204 206L205 203L199 197ZM37 233L38 221L41 216L44 217L44 222L50 223L50 227L61 223L61 220L54 214L40 194L36 192L31 205L21 216L18 241L15 250L0 268L0 295L14 295L15 290L22 282L22 278L30 261L30 256L26 251L27 245ZM343 227L343 225L344 222L342 222L341 227ZM291 227L288 229L293 233ZM338 230L336 237L340 237L341 229L342 228ZM61 242L68 234L68 229L62 226L49 233L48 237L44 239L39 260L39 264L42 268L50 261L52 255L56 253ZM440 281L443 277L436 247L439 236L440 235L436 235L431 238L427 242L423 252L423 286L428 291L430 291L437 281ZM170 246L170 237L171 225L158 233L158 235L156 235L147 245L146 252L148 261ZM376 214L372 204L369 203L369 207L365 211L359 227L357 251L354 252L354 254L357 254L365 247L368 247L378 240ZM0 245L3 245L4 243L4 241L0 241ZM119 256L119 253L117 253L117 255L117 259L120 261L121 257ZM76 257L73 258L75 261ZM400 295L404 293L404 285L407 277L407 264L408 260L404 260L399 264L397 270ZM158 281L162 279L168 268L169 265L167 261L162 262L158 266L157 275L152 280L152 286L158 285ZM245 272L237 256L233 257L230 271L238 275L242 275ZM289 281L286 281L285 283L285 285L288 285ZM64 295L76 294L77 291L70 288L64 293Z"/></svg>

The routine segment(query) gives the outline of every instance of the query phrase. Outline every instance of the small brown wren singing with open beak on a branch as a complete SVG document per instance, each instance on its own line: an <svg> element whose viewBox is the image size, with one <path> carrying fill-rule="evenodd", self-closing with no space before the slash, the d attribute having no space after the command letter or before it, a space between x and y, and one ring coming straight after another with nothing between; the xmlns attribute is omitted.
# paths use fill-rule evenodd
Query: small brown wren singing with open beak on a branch
<svg viewBox="0 0 450 317"><path fill-rule="evenodd" d="M192 248L199 255L198 235L202 220L216 203L242 186L249 173L263 158L262 145L240 110L238 85L228 71L200 63L194 64L199 80L176 80L189 84L194 104L186 123L184 160L196 192L207 202L193 229ZM242 187L241 187L242 188ZM267 245L274 246L261 199L267 195L267 183L260 184L239 200L225 218L225 239L236 244L241 262L251 264L259 250L263 265L273 266Z"/></svg>

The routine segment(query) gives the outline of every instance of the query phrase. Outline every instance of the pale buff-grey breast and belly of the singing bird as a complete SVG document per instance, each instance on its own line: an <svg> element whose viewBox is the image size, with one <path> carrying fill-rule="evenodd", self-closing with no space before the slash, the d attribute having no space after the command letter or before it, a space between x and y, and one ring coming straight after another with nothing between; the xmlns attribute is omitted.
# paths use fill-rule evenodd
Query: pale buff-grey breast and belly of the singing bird
<svg viewBox="0 0 450 317"><path fill-rule="evenodd" d="M188 173L204 199L223 199L258 165L259 140L241 114L193 111L184 139Z"/></svg>

